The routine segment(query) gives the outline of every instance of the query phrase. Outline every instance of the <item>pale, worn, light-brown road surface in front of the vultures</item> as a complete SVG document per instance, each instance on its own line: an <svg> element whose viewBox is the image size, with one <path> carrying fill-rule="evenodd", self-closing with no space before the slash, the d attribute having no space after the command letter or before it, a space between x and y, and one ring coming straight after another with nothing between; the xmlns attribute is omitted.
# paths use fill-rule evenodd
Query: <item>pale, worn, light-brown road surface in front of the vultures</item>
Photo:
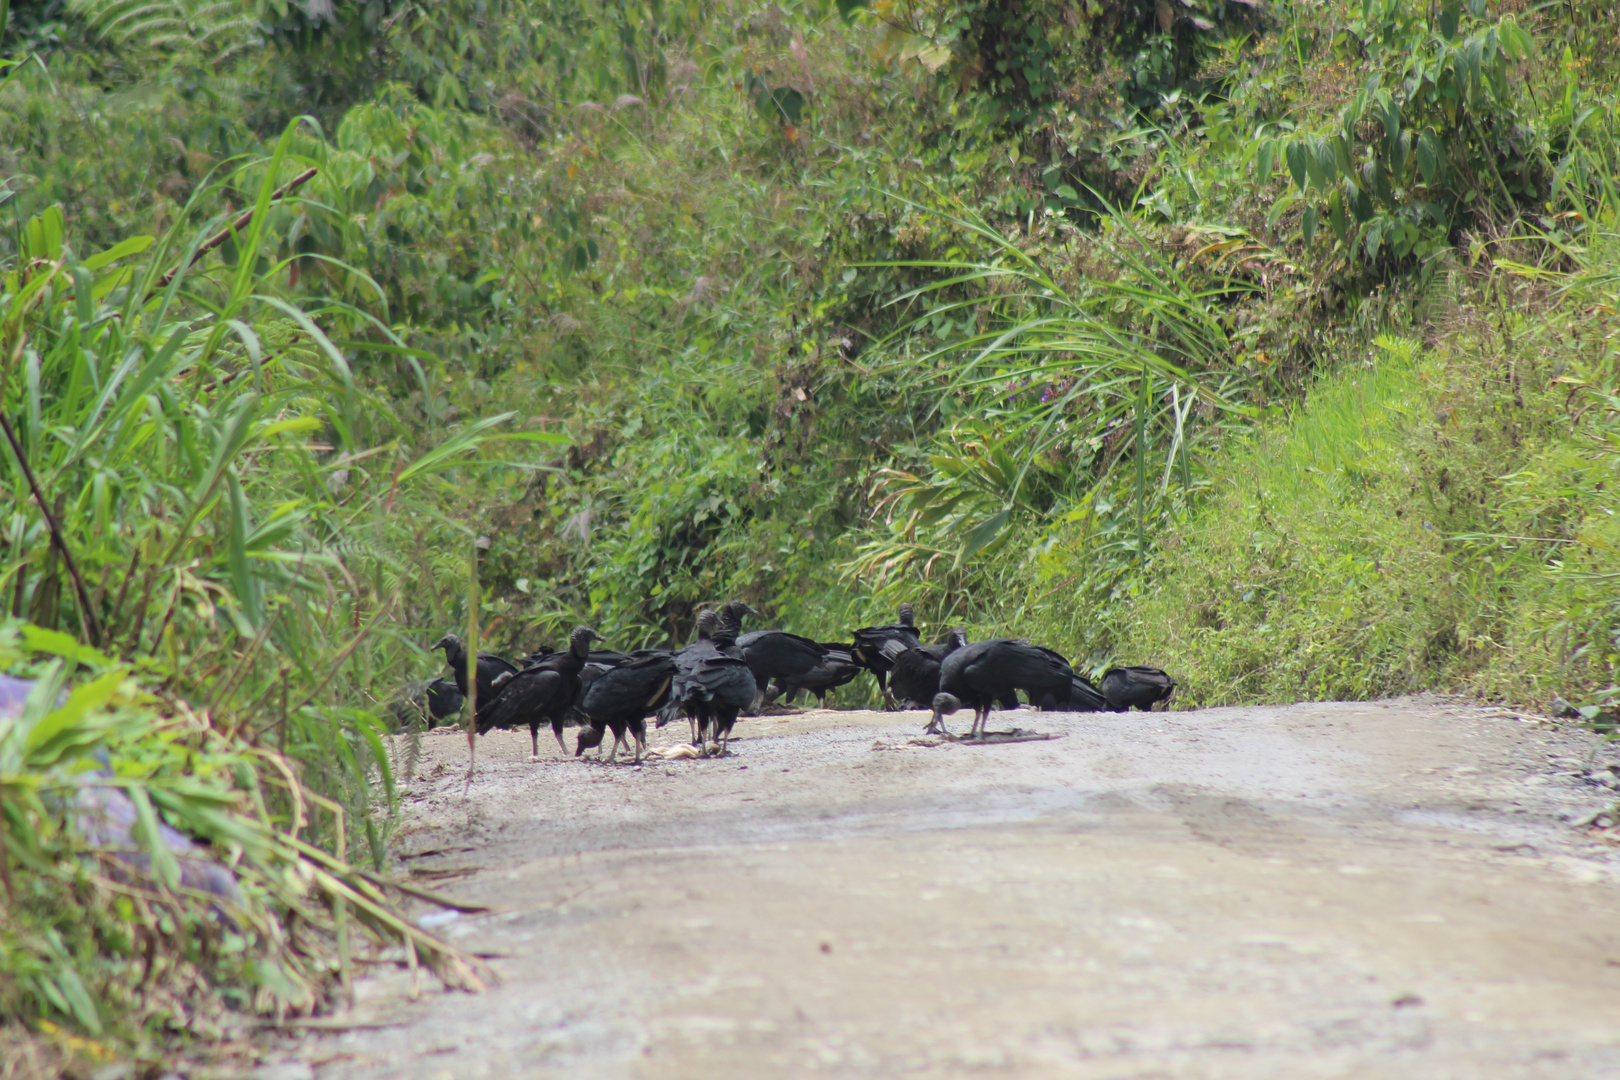
<svg viewBox="0 0 1620 1080"><path fill-rule="evenodd" d="M355 1018L394 1027L301 1061L1620 1077L1620 848L1573 824L1614 801L1573 776L1610 758L1592 735L1437 699L1019 711L991 727L1059 738L985 746L912 745L922 721L748 719L729 758L640 767L494 733L468 797L462 738L423 738L403 865L496 907L441 929L504 981L410 1004L368 980Z"/></svg>

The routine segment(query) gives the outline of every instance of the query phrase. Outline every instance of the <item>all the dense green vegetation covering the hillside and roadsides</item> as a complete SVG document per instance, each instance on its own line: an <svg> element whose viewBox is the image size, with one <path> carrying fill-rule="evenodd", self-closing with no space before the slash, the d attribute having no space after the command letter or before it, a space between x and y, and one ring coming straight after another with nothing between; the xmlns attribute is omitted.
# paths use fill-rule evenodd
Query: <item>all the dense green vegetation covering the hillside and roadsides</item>
<svg viewBox="0 0 1620 1080"><path fill-rule="evenodd" d="M452 628L635 648L740 597L836 640L909 599L1184 704L1601 716L1617 36L1511 0L13 3L3 1065L201 1052L363 949L473 986L377 876L384 737Z"/></svg>

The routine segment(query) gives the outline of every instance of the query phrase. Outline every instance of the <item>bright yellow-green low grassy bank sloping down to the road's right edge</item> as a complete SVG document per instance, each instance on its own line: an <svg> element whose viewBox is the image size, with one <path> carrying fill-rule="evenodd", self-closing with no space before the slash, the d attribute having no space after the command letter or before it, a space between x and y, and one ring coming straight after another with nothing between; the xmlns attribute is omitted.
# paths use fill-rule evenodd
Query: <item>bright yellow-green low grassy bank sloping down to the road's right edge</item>
<svg viewBox="0 0 1620 1080"><path fill-rule="evenodd" d="M1495 321L1471 296L1427 343L1343 356L1215 463L1116 627L1184 703L1614 685L1614 355L1575 304L1502 288Z"/></svg>

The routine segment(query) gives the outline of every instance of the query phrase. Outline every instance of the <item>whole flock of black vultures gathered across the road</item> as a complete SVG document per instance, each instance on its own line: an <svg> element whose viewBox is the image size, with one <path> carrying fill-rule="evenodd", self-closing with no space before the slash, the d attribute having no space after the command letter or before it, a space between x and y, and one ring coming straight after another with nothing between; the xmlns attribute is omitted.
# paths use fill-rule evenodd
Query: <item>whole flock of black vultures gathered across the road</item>
<svg viewBox="0 0 1620 1080"><path fill-rule="evenodd" d="M433 648L444 649L454 678L428 683L424 704L434 719L455 716L468 696L475 701L473 724L467 732L468 774L475 753L475 732L528 725L531 761L539 759L539 729L549 724L557 745L567 721L580 724L573 756L601 746L608 732L619 748L635 740L635 759L646 750L646 719L663 727L685 717L692 745L701 753L726 753L739 716L747 716L776 699L792 703L812 693L821 704L826 695L872 672L889 708L932 709L927 732L944 730L944 717L970 708L970 738L985 735L993 708L1019 706L1022 691L1030 706L1071 712L1124 712L1150 709L1170 698L1176 683L1157 667L1111 667L1098 685L1074 672L1063 656L1029 641L993 638L969 641L953 628L940 644L923 644L910 604L899 606L899 620L885 627L863 627L850 643L820 643L784 630L742 630L757 610L731 601L718 612L698 615L697 641L682 649L637 649L612 653L591 649L599 635L578 627L561 653L541 648L517 662L480 653L468 664L467 646L444 635ZM473 685L468 683L473 675ZM476 693L471 693L476 690Z"/></svg>

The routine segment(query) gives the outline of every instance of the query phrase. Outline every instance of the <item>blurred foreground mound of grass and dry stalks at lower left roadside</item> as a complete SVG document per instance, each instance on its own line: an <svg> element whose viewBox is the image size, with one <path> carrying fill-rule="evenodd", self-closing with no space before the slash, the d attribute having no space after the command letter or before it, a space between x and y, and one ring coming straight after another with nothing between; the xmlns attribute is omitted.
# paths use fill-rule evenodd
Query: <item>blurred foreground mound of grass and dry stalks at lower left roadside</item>
<svg viewBox="0 0 1620 1080"><path fill-rule="evenodd" d="M63 633L5 620L0 670L32 687L0 714L0 1014L44 1036L36 1072L156 1065L314 1012L376 944L481 986L347 861L343 806L296 759Z"/></svg>

